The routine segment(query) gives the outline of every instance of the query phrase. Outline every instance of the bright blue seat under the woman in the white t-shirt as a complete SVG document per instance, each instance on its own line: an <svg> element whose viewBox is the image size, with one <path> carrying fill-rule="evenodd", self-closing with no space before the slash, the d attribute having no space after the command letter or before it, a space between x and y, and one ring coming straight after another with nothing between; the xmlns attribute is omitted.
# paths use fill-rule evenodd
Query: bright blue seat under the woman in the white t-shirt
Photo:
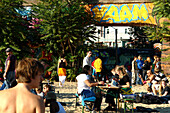
<svg viewBox="0 0 170 113"><path fill-rule="evenodd" d="M79 98L79 95L77 93L75 93L75 95L76 95L76 105L75 105L75 107L77 107L77 98ZM83 96L81 96L81 98L82 98L81 105L83 106L82 107L82 113L84 113L84 106L86 106L86 108L88 108L86 102L95 102L96 97L84 98Z"/></svg>

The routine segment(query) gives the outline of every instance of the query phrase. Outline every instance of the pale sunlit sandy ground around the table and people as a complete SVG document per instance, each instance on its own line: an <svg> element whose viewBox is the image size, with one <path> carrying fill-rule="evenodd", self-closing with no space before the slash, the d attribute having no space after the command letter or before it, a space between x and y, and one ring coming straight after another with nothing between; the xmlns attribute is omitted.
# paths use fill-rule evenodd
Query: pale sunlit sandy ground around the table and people
<svg viewBox="0 0 170 113"><path fill-rule="evenodd" d="M53 86L55 86L57 101L66 103L66 106L64 106L66 113L81 113L82 106L77 106L75 108L75 104L76 104L75 93L77 89L76 84L77 84L76 82L65 82L63 87L59 87L58 82L54 82L53 84ZM138 85L138 86L133 86L132 88L134 92L146 92L145 86ZM134 103L134 108L136 106L152 108L158 110L159 113L170 113L170 104L149 105L149 104L142 104L142 103ZM102 110L105 107L107 107L107 104L105 103L105 98L103 98L100 113L103 113ZM121 112L122 111L120 111L119 113ZM49 108L46 108L46 113L50 113ZM85 111L85 113L88 112ZM109 113L114 113L114 111Z"/></svg>

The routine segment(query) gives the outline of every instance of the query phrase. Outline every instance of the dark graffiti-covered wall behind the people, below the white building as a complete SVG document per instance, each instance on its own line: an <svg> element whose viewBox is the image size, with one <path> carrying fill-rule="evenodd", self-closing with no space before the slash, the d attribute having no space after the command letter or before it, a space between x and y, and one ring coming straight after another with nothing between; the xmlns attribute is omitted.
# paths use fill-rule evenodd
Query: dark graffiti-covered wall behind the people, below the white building
<svg viewBox="0 0 170 113"><path fill-rule="evenodd" d="M124 65L125 67L131 66L131 62L134 56L141 55L143 60L146 60L147 57L151 58L153 62L153 56L155 49L127 49L127 48L119 48L118 49L118 65ZM103 66L107 68L107 70L111 70L115 67L116 63L116 50L115 48L109 49L98 49L93 50L92 60L95 59L96 56L100 55L102 57ZM161 54L161 53L159 53Z"/></svg>

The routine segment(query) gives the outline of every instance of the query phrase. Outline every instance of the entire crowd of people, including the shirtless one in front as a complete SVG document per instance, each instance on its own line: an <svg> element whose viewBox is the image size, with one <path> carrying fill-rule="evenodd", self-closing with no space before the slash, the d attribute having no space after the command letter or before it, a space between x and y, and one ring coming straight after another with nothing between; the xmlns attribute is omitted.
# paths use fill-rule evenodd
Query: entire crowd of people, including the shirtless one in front
<svg viewBox="0 0 170 113"><path fill-rule="evenodd" d="M28 113L35 111L36 113L44 113L45 106L50 103L51 113L65 113L61 103L56 102L55 93L50 91L50 85L45 85L43 89L40 87L43 80L44 66L37 59L24 58L17 62L11 48L6 49L6 55L4 82L0 88L2 90L0 91L2 103L0 112L23 112L24 110ZM161 70L160 57L154 56L154 62L152 63L150 57L143 61L142 56L135 56L132 61L131 73L128 72L125 66L117 65L110 70L109 74L105 73L100 55L95 57L94 61L91 57L92 51L88 51L87 56L83 59L82 72L76 77L80 102L82 101L81 96L86 90L95 94L93 96L96 97L96 100L94 105L90 105L89 109L101 110L103 95L101 90L97 90L95 86L105 85L106 83L120 89L146 84L148 94L160 96L164 101L170 100L169 81ZM58 61L57 69L60 87L63 87L67 76L66 66L67 61L65 56L62 55ZM112 89L107 91L105 102L108 103L108 106L104 109L106 111L115 110L116 107L115 96L109 95L109 93L114 93L114 91Z"/></svg>

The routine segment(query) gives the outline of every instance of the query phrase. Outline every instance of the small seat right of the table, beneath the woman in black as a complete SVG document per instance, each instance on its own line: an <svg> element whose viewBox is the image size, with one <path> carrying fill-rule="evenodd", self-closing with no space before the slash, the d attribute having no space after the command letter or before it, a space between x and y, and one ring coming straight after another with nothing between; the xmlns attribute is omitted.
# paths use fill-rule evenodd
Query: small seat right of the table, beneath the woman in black
<svg viewBox="0 0 170 113"><path fill-rule="evenodd" d="M131 110L133 113L134 95L132 88L121 88L120 92L120 99L124 103L124 113L126 113L126 110Z"/></svg>

